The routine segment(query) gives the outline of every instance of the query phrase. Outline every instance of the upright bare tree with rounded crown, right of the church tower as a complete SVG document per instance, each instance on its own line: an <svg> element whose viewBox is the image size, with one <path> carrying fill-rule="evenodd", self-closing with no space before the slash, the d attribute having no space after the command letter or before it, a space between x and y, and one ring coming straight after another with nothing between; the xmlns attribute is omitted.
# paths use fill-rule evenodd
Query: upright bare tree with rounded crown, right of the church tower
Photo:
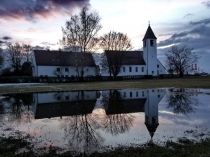
<svg viewBox="0 0 210 157"><path fill-rule="evenodd" d="M172 46L165 55L166 66L176 71L180 77L183 77L191 65L197 63L200 58L193 52L193 48L188 48L186 45L180 48L178 46Z"/></svg>

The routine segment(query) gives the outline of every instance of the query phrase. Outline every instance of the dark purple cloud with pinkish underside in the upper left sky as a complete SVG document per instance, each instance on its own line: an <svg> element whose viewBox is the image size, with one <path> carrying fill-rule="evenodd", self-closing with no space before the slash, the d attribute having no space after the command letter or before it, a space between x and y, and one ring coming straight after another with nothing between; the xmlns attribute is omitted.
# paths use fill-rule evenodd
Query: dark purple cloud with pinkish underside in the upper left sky
<svg viewBox="0 0 210 157"><path fill-rule="evenodd" d="M75 8L89 5L89 0L1 0L0 18L36 21L58 12L72 14Z"/></svg>

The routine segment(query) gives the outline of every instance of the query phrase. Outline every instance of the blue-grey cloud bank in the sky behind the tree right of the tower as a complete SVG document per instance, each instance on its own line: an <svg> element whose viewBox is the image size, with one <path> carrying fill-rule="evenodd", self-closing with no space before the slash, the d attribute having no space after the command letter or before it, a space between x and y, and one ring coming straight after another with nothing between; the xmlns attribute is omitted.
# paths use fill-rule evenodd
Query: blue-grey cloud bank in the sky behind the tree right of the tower
<svg viewBox="0 0 210 157"><path fill-rule="evenodd" d="M158 43L158 57L160 61L165 64L165 53L171 48L171 46L183 46L187 45L189 48L193 48L193 51L201 58L198 64L204 71L209 70L210 59L210 27L207 25L188 25L187 28L191 28L187 31L174 33L168 39L160 41Z"/></svg>

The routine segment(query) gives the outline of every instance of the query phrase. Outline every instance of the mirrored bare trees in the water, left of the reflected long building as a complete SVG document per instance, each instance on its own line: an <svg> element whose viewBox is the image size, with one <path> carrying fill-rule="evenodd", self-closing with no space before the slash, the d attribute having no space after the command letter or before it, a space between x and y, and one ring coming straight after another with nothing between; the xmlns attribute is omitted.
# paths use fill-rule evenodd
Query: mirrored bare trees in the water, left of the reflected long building
<svg viewBox="0 0 210 157"><path fill-rule="evenodd" d="M33 118L32 113L32 94L13 94L7 95L3 99L1 107L4 120L8 122L29 123Z"/></svg>

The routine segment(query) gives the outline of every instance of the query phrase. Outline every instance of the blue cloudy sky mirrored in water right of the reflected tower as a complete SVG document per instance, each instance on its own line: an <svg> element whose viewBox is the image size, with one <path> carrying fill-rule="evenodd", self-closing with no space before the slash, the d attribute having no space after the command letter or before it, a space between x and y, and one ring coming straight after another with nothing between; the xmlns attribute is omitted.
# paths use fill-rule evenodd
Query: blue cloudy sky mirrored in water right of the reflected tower
<svg viewBox="0 0 210 157"><path fill-rule="evenodd" d="M171 109L168 108L167 97L163 98L159 103L159 118L167 119L176 125L182 126L192 126L192 125L200 125L200 126L208 126L210 119L210 95L208 95L209 90L201 89L200 93L197 96L190 96L193 99L198 99L198 104L193 107L193 112L188 115L180 114L172 114ZM193 105L193 104L192 104ZM184 108L185 106L183 106ZM164 123L164 121L160 121L160 123Z"/></svg>

